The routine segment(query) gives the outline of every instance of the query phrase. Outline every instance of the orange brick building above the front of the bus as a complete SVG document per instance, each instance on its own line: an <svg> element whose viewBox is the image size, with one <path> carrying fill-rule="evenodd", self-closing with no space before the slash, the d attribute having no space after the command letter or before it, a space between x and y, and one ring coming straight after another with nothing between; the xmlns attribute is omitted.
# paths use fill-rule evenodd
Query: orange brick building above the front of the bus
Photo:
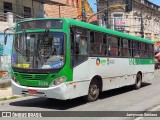
<svg viewBox="0 0 160 120"><path fill-rule="evenodd" d="M44 11L46 17L66 17L82 20L82 0L52 0L58 1L61 5L45 4ZM94 14L87 0L84 0L84 8L86 17L89 18ZM86 19L87 19L86 18ZM93 17L89 22L96 21L97 17Z"/></svg>

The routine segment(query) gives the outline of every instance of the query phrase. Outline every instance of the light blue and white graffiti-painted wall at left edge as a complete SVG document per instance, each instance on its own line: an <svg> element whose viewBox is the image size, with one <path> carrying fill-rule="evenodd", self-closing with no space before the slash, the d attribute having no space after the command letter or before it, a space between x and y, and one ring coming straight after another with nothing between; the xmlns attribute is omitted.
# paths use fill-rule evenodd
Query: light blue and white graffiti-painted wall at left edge
<svg viewBox="0 0 160 120"><path fill-rule="evenodd" d="M7 44L4 45L4 34L0 33L0 81L11 79L11 54L13 35L8 35Z"/></svg>

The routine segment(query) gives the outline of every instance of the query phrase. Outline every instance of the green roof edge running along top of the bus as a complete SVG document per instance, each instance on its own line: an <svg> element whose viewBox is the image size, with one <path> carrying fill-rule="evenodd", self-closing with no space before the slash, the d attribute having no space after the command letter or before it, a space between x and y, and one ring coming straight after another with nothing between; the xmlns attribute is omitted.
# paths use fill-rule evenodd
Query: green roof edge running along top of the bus
<svg viewBox="0 0 160 120"><path fill-rule="evenodd" d="M82 22L82 21L75 20L75 19L72 19L72 18L34 18L34 19L21 20L17 23L27 22L27 21L32 21L32 20L49 20L49 19L62 19L62 20L65 20L66 22L68 22L69 25L75 25L75 26L83 27L83 28L90 29L90 30L93 30L93 31L108 33L108 34L111 34L111 35L124 37L124 38L128 38L128 39L131 39L131 40L137 40L137 41L141 41L141 42L154 44L154 41L149 40L149 39L144 39L144 38L141 38L141 37L137 37L137 36L133 36L133 35L130 35L130 34L122 33L122 32L119 32L119 31L107 29L107 28L104 28L104 27L93 25L93 24L90 24L90 23L87 23L87 22Z"/></svg>

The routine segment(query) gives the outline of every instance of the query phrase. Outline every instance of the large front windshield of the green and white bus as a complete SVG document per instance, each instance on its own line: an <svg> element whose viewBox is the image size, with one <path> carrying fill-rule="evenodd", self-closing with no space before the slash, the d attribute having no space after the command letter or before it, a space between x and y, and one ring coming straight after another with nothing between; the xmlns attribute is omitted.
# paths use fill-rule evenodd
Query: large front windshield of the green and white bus
<svg viewBox="0 0 160 120"><path fill-rule="evenodd" d="M62 32L16 34L13 42L12 66L27 69L57 69L64 65Z"/></svg>

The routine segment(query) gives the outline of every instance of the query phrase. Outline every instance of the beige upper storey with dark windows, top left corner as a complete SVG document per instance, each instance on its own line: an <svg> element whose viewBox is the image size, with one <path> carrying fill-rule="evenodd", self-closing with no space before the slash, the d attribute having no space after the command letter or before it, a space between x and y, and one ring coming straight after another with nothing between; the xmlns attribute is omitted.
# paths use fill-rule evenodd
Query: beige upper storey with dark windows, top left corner
<svg viewBox="0 0 160 120"><path fill-rule="evenodd" d="M24 18L43 17L43 4L40 0L0 0L0 12L13 12Z"/></svg>

